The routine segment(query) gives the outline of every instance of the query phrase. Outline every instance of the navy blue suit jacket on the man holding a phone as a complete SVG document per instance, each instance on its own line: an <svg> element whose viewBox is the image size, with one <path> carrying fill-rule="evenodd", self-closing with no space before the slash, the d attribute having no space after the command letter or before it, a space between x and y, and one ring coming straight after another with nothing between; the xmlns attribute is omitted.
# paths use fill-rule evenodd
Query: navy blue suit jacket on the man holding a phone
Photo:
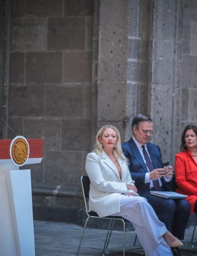
<svg viewBox="0 0 197 256"><path fill-rule="evenodd" d="M135 180L135 186L137 187L137 192L146 197L149 195L150 183L144 183L145 173L148 172L147 166L138 150L135 142L131 138L129 141L122 144L122 149L125 157L129 160L129 169L133 180ZM148 142L147 149L149 155L153 162L155 169L163 168L163 162L161 159L161 152L159 146ZM170 186L165 182L164 178L161 179L162 186L164 190L172 191Z"/></svg>

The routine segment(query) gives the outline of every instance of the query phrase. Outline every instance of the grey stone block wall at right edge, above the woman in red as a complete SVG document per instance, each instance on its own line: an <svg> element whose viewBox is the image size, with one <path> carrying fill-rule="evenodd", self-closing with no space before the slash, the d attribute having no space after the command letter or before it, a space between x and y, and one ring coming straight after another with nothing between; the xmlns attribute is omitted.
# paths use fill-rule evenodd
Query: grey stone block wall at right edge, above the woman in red
<svg viewBox="0 0 197 256"><path fill-rule="evenodd" d="M187 124L197 125L197 2L183 1L181 33L181 132Z"/></svg>

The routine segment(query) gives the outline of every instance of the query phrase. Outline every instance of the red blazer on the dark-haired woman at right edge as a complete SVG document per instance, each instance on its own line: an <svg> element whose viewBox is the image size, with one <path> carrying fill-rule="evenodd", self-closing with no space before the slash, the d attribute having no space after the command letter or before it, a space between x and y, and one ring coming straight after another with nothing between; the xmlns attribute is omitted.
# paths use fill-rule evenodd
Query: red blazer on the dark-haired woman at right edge
<svg viewBox="0 0 197 256"><path fill-rule="evenodd" d="M189 150L176 154L175 158L176 192L188 195L186 200L191 204L191 213L193 213L197 200L197 162Z"/></svg>

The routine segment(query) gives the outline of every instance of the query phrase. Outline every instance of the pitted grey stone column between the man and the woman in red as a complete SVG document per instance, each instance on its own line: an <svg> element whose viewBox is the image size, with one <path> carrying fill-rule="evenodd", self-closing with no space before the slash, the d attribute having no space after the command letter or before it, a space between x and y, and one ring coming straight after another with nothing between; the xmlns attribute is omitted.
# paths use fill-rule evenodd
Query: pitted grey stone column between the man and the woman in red
<svg viewBox="0 0 197 256"><path fill-rule="evenodd" d="M171 160L172 105L174 101L174 33L176 1L155 0L153 54L147 108L154 123L153 143L161 147L163 160Z"/></svg>

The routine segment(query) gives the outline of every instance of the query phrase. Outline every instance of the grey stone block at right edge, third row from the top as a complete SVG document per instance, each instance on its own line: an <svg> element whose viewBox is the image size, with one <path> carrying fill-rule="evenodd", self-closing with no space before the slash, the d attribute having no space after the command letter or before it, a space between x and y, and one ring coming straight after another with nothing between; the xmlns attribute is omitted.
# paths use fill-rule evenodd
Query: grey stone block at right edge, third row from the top
<svg viewBox="0 0 197 256"><path fill-rule="evenodd" d="M182 61L182 81L184 87L197 87L197 56L183 55Z"/></svg>

